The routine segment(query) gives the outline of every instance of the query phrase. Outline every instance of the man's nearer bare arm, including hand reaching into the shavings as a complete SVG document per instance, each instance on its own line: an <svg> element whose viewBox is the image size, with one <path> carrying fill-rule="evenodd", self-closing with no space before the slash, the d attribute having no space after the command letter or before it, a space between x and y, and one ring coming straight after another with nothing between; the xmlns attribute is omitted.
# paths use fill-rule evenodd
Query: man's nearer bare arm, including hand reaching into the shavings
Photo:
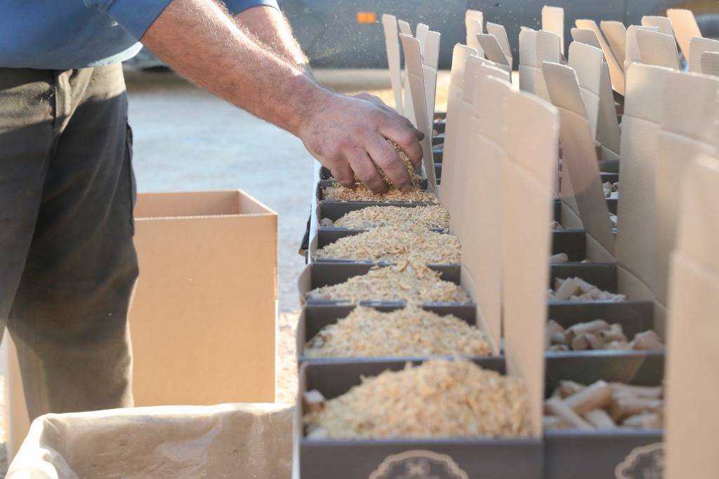
<svg viewBox="0 0 719 479"><path fill-rule="evenodd" d="M385 190L374 160L397 187L411 187L386 139L419 167L418 131L374 103L319 87L252 42L214 1L171 1L141 40L201 88L298 136L342 185L353 184L354 172L373 191Z"/></svg>

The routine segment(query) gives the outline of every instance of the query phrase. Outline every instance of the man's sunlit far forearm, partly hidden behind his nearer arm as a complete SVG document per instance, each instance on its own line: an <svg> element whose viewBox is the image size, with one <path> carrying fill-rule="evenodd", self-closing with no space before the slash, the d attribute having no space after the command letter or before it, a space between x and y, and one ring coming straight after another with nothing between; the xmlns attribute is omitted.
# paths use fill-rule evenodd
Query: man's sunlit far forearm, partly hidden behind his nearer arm
<svg viewBox="0 0 719 479"><path fill-rule="evenodd" d="M272 6L255 6L240 12L234 18L259 45L306 73L309 71L307 57L281 11Z"/></svg>

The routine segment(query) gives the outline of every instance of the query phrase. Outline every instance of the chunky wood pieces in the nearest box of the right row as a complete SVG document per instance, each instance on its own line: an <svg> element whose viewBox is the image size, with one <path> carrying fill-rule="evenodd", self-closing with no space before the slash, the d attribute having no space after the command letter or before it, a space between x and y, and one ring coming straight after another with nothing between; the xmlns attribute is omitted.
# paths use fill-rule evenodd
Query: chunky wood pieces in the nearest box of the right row
<svg viewBox="0 0 719 479"><path fill-rule="evenodd" d="M570 389L567 383L572 386ZM544 403L544 424L549 429L587 429L587 426L594 429L661 429L662 396L660 386L630 386L605 381L583 386L560 381L557 391Z"/></svg>

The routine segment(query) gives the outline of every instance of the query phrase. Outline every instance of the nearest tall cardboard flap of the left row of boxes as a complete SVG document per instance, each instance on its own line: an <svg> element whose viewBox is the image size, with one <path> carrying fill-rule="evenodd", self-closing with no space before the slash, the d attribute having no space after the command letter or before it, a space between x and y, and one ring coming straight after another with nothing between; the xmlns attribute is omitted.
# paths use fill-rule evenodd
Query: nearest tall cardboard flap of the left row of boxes
<svg viewBox="0 0 719 479"><path fill-rule="evenodd" d="M524 379L532 432L542 434L544 325L551 251L551 199L559 114L536 96L512 91L502 168L502 282L508 373Z"/></svg>

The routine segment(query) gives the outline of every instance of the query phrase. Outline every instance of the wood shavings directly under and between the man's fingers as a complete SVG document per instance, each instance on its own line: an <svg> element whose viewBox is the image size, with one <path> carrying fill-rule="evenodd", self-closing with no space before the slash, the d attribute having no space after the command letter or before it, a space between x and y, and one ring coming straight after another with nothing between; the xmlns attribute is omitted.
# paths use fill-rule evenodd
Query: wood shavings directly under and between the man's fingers
<svg viewBox="0 0 719 479"><path fill-rule="evenodd" d="M335 182L334 185L332 185L329 188L324 188L324 198L326 200L332 200L332 201L398 201L398 202L426 202L426 203L436 203L437 197L433 193L421 190L419 188L419 180L420 177L417 175L417 173L414 171L414 167L412 166L412 163L407 156L405 152L399 147L398 144L396 144L392 140L387 140L390 142L392 147L398 152L400 158L406 164L409 175L411 177L411 181L414 185L414 189L408 192L401 192L400 190L396 189L390 179L385 175L385 172L382 171L380 167L378 167L375 164L375 167L377 168L377 172L380 173L380 176L384 180L384 182L388 185L388 190L384 193L380 193L377 195L376 193L372 192L372 190L368 190L365 185L362 184L361 181L359 181L359 178L357 175L354 176L354 189L347 188L339 183Z"/></svg>

